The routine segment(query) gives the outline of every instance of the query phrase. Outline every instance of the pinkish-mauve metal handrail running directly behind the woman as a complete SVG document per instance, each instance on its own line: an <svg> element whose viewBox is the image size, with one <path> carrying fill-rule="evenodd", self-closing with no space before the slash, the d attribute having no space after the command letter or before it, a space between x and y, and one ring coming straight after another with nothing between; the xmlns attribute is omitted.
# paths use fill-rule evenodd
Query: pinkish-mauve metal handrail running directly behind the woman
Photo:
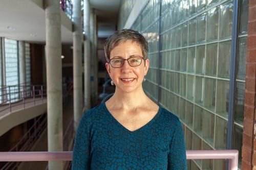
<svg viewBox="0 0 256 170"><path fill-rule="evenodd" d="M72 151L67 152L0 152L0 161L49 161L72 160ZM228 169L238 169L237 150L191 150L187 159L228 159Z"/></svg>

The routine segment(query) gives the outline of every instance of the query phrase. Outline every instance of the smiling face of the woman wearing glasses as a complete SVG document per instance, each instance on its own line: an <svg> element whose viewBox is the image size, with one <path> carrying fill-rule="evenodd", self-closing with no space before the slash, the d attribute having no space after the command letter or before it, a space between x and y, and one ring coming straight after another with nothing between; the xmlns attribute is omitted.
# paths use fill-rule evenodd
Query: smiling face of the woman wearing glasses
<svg viewBox="0 0 256 170"><path fill-rule="evenodd" d="M113 48L110 53L110 60L113 58L129 59L131 57L143 57L140 45L136 41L126 40ZM139 66L132 67L127 60L120 68L114 68L106 63L106 69L110 78L116 85L116 90L132 92L142 90L142 82L148 70L148 59L141 61Z"/></svg>

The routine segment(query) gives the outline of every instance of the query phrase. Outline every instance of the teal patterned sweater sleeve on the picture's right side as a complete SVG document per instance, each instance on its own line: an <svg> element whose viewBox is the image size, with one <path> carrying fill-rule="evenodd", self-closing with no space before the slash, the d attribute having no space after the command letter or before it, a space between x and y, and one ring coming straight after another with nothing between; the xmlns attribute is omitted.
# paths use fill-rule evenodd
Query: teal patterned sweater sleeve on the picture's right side
<svg viewBox="0 0 256 170"><path fill-rule="evenodd" d="M184 133L179 120L174 131L173 139L170 142L170 152L168 154L168 170L174 169L187 169Z"/></svg>

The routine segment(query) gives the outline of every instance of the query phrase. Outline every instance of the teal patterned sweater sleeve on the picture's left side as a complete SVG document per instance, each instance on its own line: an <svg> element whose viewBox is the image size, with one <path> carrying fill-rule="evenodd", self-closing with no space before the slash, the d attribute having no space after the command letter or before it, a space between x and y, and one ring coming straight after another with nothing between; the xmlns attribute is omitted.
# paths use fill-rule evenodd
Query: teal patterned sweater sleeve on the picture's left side
<svg viewBox="0 0 256 170"><path fill-rule="evenodd" d="M84 116L82 117L73 148L72 170L90 169L90 125Z"/></svg>

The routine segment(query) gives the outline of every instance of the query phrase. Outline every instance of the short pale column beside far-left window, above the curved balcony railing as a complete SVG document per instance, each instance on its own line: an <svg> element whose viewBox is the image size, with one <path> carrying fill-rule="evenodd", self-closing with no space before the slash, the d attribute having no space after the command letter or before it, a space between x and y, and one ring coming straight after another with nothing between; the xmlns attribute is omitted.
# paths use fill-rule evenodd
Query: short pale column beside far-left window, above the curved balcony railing
<svg viewBox="0 0 256 170"><path fill-rule="evenodd" d="M26 83L26 56L25 41L18 41L18 58L19 58L19 84Z"/></svg>

